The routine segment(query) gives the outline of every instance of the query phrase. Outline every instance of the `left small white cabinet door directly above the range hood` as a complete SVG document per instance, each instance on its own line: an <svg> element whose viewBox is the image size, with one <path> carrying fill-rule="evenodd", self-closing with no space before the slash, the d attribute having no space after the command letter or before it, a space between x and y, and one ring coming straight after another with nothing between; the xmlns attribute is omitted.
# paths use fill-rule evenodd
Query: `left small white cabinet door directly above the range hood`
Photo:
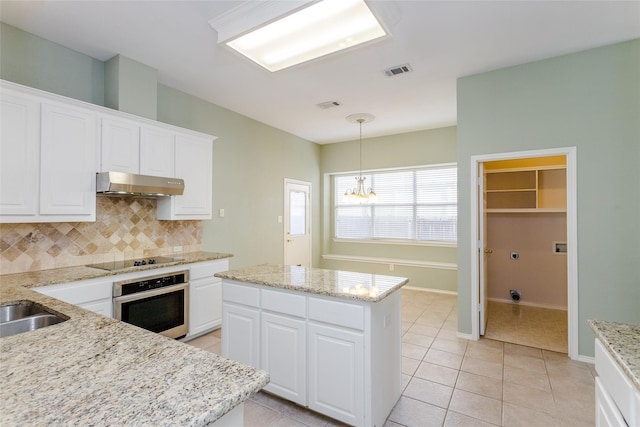
<svg viewBox="0 0 640 427"><path fill-rule="evenodd" d="M105 117L101 125L101 172L140 173L140 126Z"/></svg>

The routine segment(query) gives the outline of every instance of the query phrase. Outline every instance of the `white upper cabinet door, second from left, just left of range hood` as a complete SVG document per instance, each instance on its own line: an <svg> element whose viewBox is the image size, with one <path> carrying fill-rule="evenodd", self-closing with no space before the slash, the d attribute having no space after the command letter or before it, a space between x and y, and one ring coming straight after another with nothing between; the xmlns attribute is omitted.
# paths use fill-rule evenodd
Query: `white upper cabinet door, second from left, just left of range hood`
<svg viewBox="0 0 640 427"><path fill-rule="evenodd" d="M41 109L40 214L95 221L96 115L62 104Z"/></svg>

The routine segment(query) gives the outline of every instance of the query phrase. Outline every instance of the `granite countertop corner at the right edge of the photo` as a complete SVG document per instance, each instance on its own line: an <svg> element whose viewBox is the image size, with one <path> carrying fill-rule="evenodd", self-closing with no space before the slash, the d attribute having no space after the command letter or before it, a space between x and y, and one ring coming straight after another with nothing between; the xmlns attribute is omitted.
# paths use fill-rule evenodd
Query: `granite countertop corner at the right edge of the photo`
<svg viewBox="0 0 640 427"><path fill-rule="evenodd" d="M589 326L629 380L640 390L640 325L589 320Z"/></svg>

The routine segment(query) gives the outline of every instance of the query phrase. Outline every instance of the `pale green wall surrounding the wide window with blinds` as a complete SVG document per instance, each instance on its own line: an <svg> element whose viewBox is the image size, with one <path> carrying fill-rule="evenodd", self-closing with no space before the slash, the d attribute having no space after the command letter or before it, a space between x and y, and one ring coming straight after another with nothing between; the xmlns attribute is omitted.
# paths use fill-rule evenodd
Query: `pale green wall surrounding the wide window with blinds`
<svg viewBox="0 0 640 427"><path fill-rule="evenodd" d="M364 128L366 131L366 128ZM456 128L446 127L410 132L362 141L362 165L367 169L412 167L456 162ZM322 253L343 256L391 258L408 261L456 263L456 247L418 246L333 241L330 174L353 172L359 168L359 140L321 146ZM457 272L453 270L354 261L322 260L324 268L357 270L409 278L409 285L455 292Z"/></svg>

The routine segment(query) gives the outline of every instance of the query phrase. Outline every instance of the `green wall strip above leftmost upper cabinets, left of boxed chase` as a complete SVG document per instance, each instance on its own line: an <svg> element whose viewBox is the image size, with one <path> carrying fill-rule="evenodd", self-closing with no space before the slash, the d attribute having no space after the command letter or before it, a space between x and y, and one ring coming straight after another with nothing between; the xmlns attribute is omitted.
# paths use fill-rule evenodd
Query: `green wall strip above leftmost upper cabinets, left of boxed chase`
<svg viewBox="0 0 640 427"><path fill-rule="evenodd" d="M104 63L0 22L4 80L104 105Z"/></svg>

